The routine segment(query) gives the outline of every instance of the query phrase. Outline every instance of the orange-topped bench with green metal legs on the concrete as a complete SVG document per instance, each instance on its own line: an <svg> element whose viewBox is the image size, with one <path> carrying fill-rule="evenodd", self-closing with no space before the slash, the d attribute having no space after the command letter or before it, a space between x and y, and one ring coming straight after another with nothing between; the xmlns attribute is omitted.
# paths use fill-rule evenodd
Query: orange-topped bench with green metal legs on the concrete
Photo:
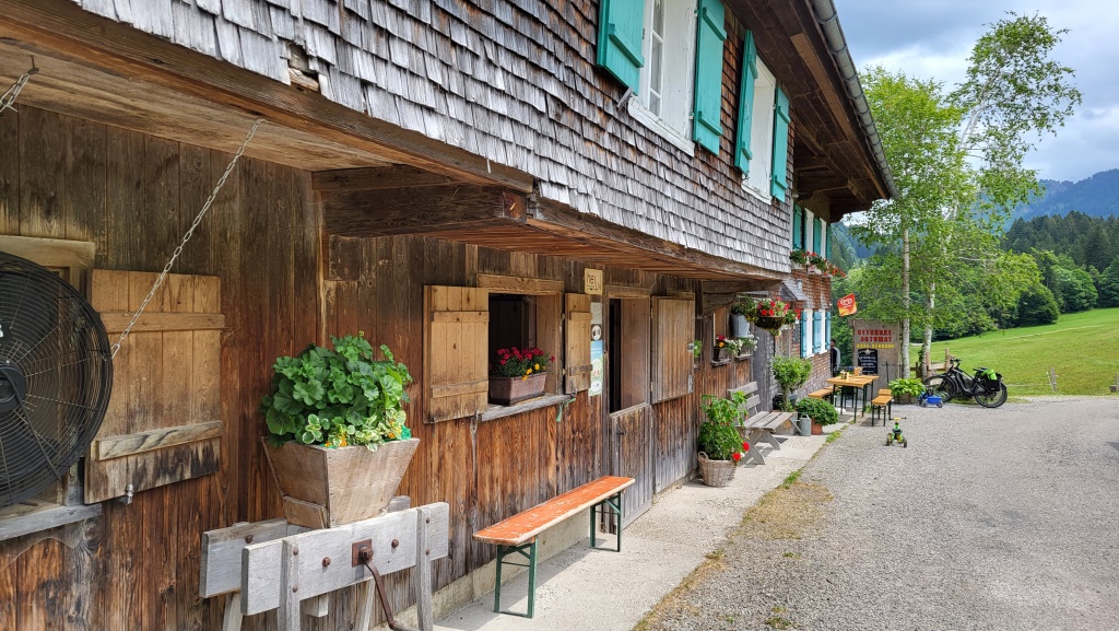
<svg viewBox="0 0 1119 631"><path fill-rule="evenodd" d="M536 537L570 517L591 509L591 547L594 548L596 547L595 533L599 531L596 523L599 510L614 512L618 516L618 545L614 547L614 551L620 553L622 550L622 519L624 518L622 514L622 491L633 482L632 477L605 475L474 532L476 541L497 546L493 612L510 613L524 618L533 616L533 606L536 603ZM519 554L528 564L506 562L505 557L511 554ZM528 568L527 613L501 611L502 564Z"/></svg>

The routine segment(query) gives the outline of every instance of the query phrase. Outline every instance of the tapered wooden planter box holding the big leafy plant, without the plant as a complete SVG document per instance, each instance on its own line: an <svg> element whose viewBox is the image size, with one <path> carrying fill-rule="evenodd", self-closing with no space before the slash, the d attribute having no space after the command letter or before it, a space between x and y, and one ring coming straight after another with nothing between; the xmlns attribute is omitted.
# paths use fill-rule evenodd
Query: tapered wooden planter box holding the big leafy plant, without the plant
<svg viewBox="0 0 1119 631"><path fill-rule="evenodd" d="M370 519L388 508L420 445L419 438L377 447L323 447L294 440L276 447L266 438L264 454L280 486L289 523L333 528Z"/></svg>

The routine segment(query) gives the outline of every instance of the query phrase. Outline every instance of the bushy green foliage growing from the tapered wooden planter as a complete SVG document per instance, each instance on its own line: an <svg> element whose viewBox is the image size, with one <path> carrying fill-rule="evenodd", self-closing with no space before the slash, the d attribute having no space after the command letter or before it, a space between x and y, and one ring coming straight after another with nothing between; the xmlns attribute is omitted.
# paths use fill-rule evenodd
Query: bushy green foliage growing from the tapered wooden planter
<svg viewBox="0 0 1119 631"><path fill-rule="evenodd" d="M411 438L403 408L404 388L412 382L407 366L385 345L385 359L375 360L361 332L330 342L333 350L312 344L272 364L272 390L261 401L271 443L375 451L385 442Z"/></svg>

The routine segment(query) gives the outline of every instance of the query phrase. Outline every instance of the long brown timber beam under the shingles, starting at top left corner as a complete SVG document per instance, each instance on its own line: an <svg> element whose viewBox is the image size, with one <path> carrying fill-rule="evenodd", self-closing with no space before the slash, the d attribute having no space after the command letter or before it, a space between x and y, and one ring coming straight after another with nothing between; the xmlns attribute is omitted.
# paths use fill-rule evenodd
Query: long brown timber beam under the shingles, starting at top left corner
<svg viewBox="0 0 1119 631"><path fill-rule="evenodd" d="M0 37L27 43L40 54L60 55L200 98L216 108L235 108L275 124L364 147L389 161L413 164L455 179L533 191L534 179L528 174L96 16L70 0L7 0Z"/></svg>

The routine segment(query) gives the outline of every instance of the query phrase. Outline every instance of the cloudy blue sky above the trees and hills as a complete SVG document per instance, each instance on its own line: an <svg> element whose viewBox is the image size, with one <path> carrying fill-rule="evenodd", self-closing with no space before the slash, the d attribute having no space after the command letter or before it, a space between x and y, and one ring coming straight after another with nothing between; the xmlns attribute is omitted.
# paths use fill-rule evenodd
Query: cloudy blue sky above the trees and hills
<svg viewBox="0 0 1119 631"><path fill-rule="evenodd" d="M1006 11L1038 12L1066 28L1053 56L1076 71L1084 102L1028 166L1046 179L1080 180L1119 168L1119 2L1106 0L834 0L859 68L891 69L952 85L987 25Z"/></svg>

